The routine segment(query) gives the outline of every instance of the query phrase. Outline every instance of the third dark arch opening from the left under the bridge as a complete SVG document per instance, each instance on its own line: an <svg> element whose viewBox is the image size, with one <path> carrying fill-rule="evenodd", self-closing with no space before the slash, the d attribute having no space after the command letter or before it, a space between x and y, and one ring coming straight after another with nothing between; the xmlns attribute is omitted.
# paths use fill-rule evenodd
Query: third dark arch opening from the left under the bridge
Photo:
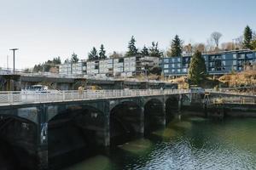
<svg viewBox="0 0 256 170"><path fill-rule="evenodd" d="M143 133L143 108L134 101L122 101L109 114L110 144L123 144Z"/></svg>

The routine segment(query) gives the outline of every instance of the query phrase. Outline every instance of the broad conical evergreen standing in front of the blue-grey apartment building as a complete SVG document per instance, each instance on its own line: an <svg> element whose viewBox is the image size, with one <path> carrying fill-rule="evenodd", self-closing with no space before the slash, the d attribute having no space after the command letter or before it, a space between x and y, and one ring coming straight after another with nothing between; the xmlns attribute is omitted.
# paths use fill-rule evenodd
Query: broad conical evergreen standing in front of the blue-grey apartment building
<svg viewBox="0 0 256 170"><path fill-rule="evenodd" d="M207 67L205 59L201 56L201 52L196 51L192 56L189 65L189 81L199 85L207 75Z"/></svg>

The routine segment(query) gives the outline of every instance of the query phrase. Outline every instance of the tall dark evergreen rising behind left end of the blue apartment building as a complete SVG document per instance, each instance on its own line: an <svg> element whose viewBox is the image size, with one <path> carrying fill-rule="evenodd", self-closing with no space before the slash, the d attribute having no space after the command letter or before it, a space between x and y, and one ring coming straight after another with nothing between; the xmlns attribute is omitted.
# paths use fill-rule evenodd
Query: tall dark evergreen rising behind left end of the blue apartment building
<svg viewBox="0 0 256 170"><path fill-rule="evenodd" d="M181 56L183 53L183 42L182 40L176 35L171 43L171 49L167 51L167 55L171 57Z"/></svg>

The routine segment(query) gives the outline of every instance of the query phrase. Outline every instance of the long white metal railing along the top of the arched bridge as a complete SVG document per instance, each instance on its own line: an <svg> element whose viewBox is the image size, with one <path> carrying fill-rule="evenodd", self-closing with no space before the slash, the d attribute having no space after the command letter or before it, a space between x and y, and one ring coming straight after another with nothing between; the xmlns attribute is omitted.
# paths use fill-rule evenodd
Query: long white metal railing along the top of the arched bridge
<svg viewBox="0 0 256 170"><path fill-rule="evenodd" d="M189 93L188 90L178 90L178 89L0 92L0 105L19 105L19 104L32 104L32 103L127 98L127 97L137 97L137 96L154 96L154 95L187 94L187 93Z"/></svg>

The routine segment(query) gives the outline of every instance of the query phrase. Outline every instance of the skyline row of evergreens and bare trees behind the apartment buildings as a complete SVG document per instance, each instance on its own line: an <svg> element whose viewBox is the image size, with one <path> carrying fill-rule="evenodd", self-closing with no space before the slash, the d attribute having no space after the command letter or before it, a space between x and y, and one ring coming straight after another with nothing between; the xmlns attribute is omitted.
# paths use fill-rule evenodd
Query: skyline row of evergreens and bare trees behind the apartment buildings
<svg viewBox="0 0 256 170"><path fill-rule="evenodd" d="M124 56L154 56L154 57L177 57L185 55L194 54L196 51L201 53L207 52L216 52L219 50L233 50L233 49L254 49L256 50L256 32L253 31L250 26L246 26L243 35L241 37L237 37L233 39L233 42L223 42L219 44L221 37L223 37L222 33L218 31L213 31L210 37L207 39L207 43L188 43L184 45L183 40L176 35L170 44L170 47L164 52L159 48L159 42L151 42L150 47L146 47L145 45L141 50L136 46L136 39L134 36L131 37L131 40L128 42L127 51L125 54L118 53L113 51L112 54L109 54L109 58L119 58ZM104 45L101 44L99 50L96 47L93 47L88 53L88 60L98 60L98 59L107 59L106 49ZM77 63L79 62L79 57L77 54L73 53L71 58L67 58L64 60L64 63ZM43 64L34 65L33 71L49 71L52 66L50 65L60 65L61 58L57 57L52 60L48 60Z"/></svg>

